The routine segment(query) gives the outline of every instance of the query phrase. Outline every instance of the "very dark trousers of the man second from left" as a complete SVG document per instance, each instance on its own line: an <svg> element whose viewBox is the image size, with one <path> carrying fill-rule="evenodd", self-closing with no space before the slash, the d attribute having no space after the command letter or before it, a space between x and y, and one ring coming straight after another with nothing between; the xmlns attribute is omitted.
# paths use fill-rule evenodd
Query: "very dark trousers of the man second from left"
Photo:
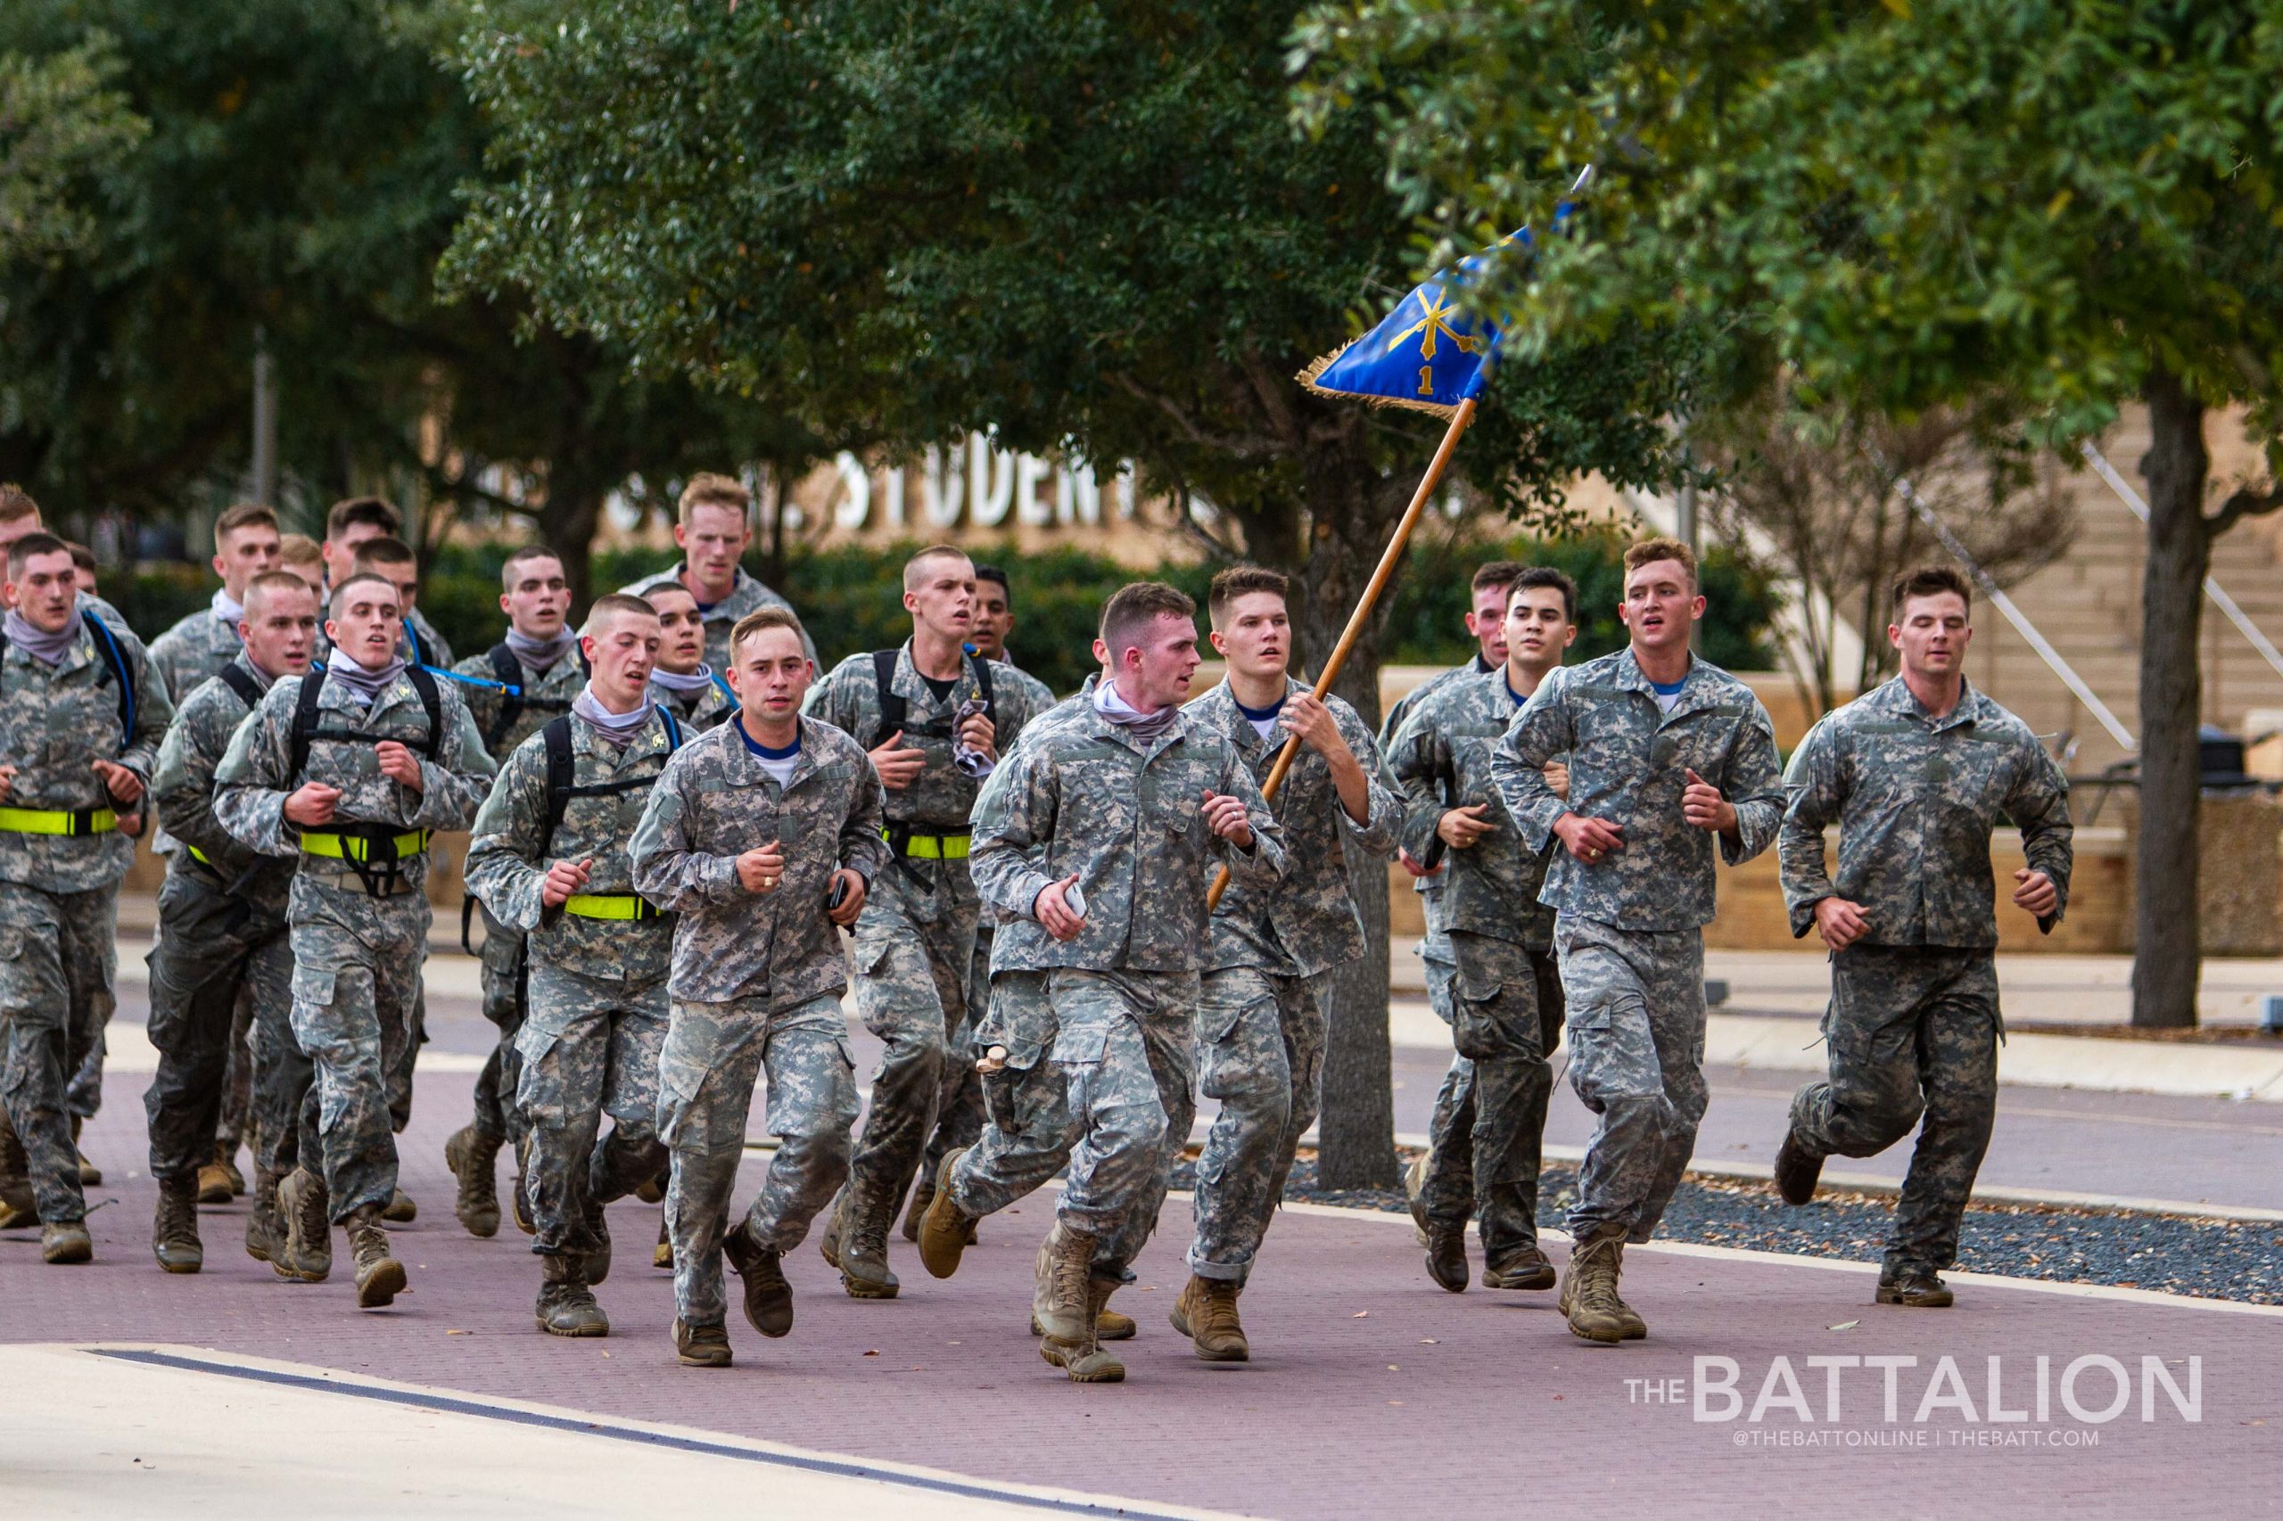
<svg viewBox="0 0 2283 1521"><path fill-rule="evenodd" d="M167 872L158 920L148 957L158 1073L144 1089L151 1176L189 1183L215 1156L237 1009L290 1007L292 950L274 911L183 872Z"/></svg>

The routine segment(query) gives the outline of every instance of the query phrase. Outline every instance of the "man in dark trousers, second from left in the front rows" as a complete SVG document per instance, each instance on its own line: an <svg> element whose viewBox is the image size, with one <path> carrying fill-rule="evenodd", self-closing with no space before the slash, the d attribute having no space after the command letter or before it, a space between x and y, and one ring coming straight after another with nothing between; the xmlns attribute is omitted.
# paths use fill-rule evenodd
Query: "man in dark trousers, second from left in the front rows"
<svg viewBox="0 0 2283 1521"><path fill-rule="evenodd" d="M308 1057L292 1039L292 948L285 941L290 861L247 850L215 818L215 767L231 735L279 676L308 671L317 594L299 576L265 571L244 587L247 639L231 665L192 687L158 751L151 799L178 850L158 895L151 950L151 1044L158 1076L144 1092L158 1220L151 1252L167 1272L199 1272L199 1167L212 1158L233 1014L253 1009L256 1158L247 1252L276 1261L279 1181L299 1160Z"/></svg>

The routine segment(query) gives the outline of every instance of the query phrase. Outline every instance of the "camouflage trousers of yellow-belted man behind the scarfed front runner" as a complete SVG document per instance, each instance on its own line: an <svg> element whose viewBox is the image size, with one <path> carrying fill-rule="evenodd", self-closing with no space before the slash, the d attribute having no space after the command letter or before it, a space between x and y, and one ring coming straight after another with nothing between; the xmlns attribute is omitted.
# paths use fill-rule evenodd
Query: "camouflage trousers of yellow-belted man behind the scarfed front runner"
<svg viewBox="0 0 2283 1521"><path fill-rule="evenodd" d="M890 863L890 872L909 870ZM886 886L886 884L884 884ZM975 959L975 909L945 904L934 920L909 916L897 886L877 893L856 925L856 1014L881 1039L872 1076L872 1108L849 1162L858 1197L902 1201L922 1151L957 1096L952 1044L968 1028L968 973ZM943 893L950 898L950 893Z"/></svg>

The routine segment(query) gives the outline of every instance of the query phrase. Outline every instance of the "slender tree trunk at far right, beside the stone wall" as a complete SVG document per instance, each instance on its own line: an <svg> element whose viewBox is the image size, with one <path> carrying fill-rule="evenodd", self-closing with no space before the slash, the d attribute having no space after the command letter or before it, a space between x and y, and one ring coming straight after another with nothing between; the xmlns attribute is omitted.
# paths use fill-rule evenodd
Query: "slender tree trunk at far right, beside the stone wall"
<svg viewBox="0 0 2283 1521"><path fill-rule="evenodd" d="M2141 576L2141 776L2132 955L2132 1023L2185 1030L2196 1023L2196 804L2203 671L2196 633L2212 539L2203 518L2210 454L2203 404L2157 368L2141 386L2151 445L2148 566Z"/></svg>

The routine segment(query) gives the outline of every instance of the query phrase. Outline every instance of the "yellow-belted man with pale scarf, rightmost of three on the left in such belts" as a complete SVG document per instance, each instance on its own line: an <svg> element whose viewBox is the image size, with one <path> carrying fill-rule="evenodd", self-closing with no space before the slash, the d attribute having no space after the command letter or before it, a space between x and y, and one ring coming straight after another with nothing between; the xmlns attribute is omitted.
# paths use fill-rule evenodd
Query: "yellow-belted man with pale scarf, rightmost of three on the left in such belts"
<svg viewBox="0 0 2283 1521"><path fill-rule="evenodd" d="M594 1283L610 1272L603 1206L658 1176L658 1053L667 1039L673 920L635 895L628 843L685 738L648 699L658 614L605 596L587 617L594 676L550 719L568 786L548 781L548 731L516 747L475 815L468 888L530 936L516 1105L530 1126L539 1329L607 1336ZM552 829L550 829L552 818ZM603 1117L612 1130L600 1142Z"/></svg>

